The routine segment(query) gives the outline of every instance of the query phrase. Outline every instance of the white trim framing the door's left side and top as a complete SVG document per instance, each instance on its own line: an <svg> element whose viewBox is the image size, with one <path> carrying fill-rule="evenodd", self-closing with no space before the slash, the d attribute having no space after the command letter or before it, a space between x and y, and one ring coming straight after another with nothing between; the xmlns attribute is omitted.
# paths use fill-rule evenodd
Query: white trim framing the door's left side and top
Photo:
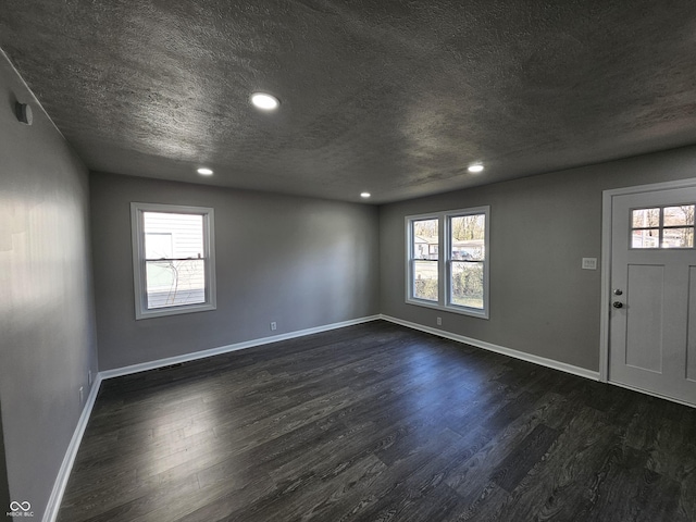
<svg viewBox="0 0 696 522"><path fill-rule="evenodd" d="M629 194L654 192L674 188L696 187L696 178L680 179L676 182L655 183L649 185L636 185L634 187L612 188L601 192L601 304L599 319L599 381L609 382L609 298L611 294L611 221L613 198ZM614 383L612 383L614 384ZM625 387L625 386L624 386ZM635 389L635 388L634 388ZM650 391L639 389L648 395ZM661 397L656 395L656 397ZM673 400L673 399L672 399ZM693 406L693 405L692 405Z"/></svg>

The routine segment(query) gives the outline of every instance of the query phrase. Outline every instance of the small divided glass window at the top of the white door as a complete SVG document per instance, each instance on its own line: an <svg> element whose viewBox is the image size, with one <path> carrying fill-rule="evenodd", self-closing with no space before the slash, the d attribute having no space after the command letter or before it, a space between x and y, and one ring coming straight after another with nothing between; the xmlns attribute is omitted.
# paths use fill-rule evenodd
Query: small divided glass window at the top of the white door
<svg viewBox="0 0 696 522"><path fill-rule="evenodd" d="M632 210L631 248L694 248L694 204Z"/></svg>

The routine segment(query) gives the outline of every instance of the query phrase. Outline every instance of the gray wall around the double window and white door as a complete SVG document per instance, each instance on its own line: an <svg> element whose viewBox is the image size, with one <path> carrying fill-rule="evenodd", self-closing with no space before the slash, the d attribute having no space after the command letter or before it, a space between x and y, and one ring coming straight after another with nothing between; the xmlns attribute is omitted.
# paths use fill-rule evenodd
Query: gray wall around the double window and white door
<svg viewBox="0 0 696 522"><path fill-rule="evenodd" d="M482 174L485 176L485 174ZM696 177L696 148L381 208L381 312L588 370L599 368L601 191ZM405 303L405 216L490 206L490 319Z"/></svg>

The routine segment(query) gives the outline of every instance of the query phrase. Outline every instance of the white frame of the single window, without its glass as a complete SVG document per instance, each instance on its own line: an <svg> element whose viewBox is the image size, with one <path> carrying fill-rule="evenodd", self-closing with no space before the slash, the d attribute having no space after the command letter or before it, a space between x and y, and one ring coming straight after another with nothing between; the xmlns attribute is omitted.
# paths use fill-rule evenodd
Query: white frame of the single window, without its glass
<svg viewBox="0 0 696 522"><path fill-rule="evenodd" d="M196 214L203 217L203 262L206 265L206 301L194 304L177 304L149 310L147 307L147 283L145 263L144 212L172 214ZM135 319L162 318L181 313L203 312L217 308L215 293L215 245L214 210L207 207L185 207L181 204L130 203L130 231L133 238L133 282L135 291Z"/></svg>

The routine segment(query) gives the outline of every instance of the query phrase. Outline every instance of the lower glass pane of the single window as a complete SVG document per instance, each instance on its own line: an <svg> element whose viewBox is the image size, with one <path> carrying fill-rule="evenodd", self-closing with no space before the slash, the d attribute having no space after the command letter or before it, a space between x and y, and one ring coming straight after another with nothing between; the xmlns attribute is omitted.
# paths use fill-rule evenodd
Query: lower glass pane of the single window
<svg viewBox="0 0 696 522"><path fill-rule="evenodd" d="M146 261L148 310L206 302L206 262Z"/></svg>

